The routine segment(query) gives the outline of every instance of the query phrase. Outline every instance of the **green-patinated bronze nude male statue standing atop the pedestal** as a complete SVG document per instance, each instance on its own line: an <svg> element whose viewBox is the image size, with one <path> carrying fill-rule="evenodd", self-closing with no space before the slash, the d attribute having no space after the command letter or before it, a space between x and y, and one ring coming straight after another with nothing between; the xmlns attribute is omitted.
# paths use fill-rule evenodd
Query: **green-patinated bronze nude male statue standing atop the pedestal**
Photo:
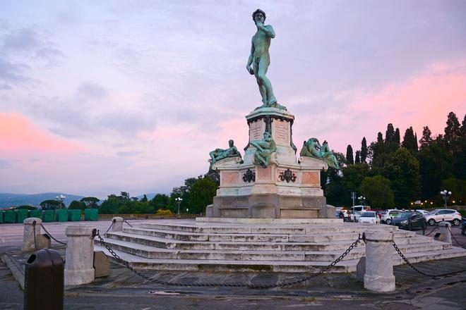
<svg viewBox="0 0 466 310"><path fill-rule="evenodd" d="M256 77L259 92L261 92L262 106L273 106L275 108L286 110L285 107L277 104L277 99L275 99L275 95L273 94L272 83L270 83L268 77L265 76L268 66L270 65L268 48L270 46L270 40L275 37L275 32L273 31L272 26L264 25L264 11L257 9L254 11L252 16L254 23L256 23L257 32L253 35L251 40L251 54L249 55L246 69L251 73L251 75Z"/></svg>

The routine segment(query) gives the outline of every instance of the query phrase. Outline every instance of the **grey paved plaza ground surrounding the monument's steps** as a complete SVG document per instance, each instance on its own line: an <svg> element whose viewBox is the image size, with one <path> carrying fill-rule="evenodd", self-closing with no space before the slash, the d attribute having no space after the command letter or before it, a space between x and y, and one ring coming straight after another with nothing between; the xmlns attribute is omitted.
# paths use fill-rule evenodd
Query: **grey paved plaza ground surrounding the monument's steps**
<svg viewBox="0 0 466 310"><path fill-rule="evenodd" d="M148 220L144 222L154 222ZM176 220L174 220L176 221ZM143 221L130 221L141 223ZM56 239L66 241L64 230L72 223L44 223ZM86 222L101 232L110 221ZM433 227L429 226L426 233ZM1 225L1 254L20 264L28 254L20 252L23 225ZM417 233L421 233L419 230ZM434 232L435 233L435 232ZM456 240L466 244L466 237L453 228ZM434 235L434 234L432 234ZM455 241L453 241L453 245ZM64 255L64 246L52 242ZM4 256L6 257L6 256ZM9 265L11 265L9 261ZM429 273L465 269L466 258L427 261L415 264ZM203 273L187 271L143 271L157 280L177 283L277 283L301 278L301 273ZM465 309L466 273L438 279L427 278L407 265L395 266L396 290L380 294L364 290L354 273L321 275L307 283L270 290L244 287L167 287L150 283L128 269L112 264L109 277L88 285L65 288L65 309L292 309L311 306L329 309ZM18 277L18 274L16 275ZM3 261L0 266L0 309L23 309L23 291Z"/></svg>

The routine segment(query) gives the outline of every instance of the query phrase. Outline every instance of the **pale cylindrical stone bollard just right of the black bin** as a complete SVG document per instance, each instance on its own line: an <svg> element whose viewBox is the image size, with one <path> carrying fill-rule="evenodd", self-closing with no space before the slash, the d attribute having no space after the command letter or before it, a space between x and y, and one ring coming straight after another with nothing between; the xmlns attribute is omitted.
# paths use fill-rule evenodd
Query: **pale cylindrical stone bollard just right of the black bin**
<svg viewBox="0 0 466 310"><path fill-rule="evenodd" d="M66 228L65 285L80 285L94 280L94 228L72 225Z"/></svg>

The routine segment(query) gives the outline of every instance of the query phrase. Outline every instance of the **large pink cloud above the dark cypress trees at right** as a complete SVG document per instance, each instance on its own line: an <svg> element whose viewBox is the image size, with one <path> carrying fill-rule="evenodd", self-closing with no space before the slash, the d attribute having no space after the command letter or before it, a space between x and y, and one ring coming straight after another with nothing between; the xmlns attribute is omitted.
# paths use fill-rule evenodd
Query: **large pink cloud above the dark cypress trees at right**
<svg viewBox="0 0 466 310"><path fill-rule="evenodd" d="M400 128L401 135L412 126L420 139L422 128L426 125L433 135L438 135L443 133L450 111L456 113L460 122L466 113L464 68L458 64L437 63L424 75L389 85L376 94L359 97L352 103L352 109L364 111L370 116L364 120L366 128L380 130L384 134L386 125L393 123ZM369 140L376 135L374 132L367 133L370 134Z"/></svg>

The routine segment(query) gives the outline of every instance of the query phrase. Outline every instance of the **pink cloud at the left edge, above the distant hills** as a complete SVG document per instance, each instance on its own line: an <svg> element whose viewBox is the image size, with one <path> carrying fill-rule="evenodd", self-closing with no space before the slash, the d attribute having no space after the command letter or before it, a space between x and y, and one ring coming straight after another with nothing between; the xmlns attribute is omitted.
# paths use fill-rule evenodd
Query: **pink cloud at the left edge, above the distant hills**
<svg viewBox="0 0 466 310"><path fill-rule="evenodd" d="M21 114L0 113L0 151L2 152L73 153L84 149L79 144L68 142L38 128Z"/></svg>

